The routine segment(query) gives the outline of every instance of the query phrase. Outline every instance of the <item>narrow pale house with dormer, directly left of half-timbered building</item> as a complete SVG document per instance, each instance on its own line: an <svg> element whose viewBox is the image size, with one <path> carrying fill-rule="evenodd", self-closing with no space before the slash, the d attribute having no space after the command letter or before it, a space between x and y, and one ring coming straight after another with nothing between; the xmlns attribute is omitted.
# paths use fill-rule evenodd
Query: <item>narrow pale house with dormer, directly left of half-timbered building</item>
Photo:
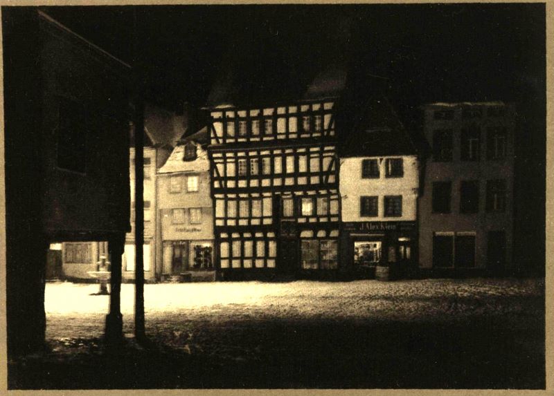
<svg viewBox="0 0 554 396"><path fill-rule="evenodd" d="M182 140L158 171L162 277L213 280L213 206L207 128Z"/></svg>

